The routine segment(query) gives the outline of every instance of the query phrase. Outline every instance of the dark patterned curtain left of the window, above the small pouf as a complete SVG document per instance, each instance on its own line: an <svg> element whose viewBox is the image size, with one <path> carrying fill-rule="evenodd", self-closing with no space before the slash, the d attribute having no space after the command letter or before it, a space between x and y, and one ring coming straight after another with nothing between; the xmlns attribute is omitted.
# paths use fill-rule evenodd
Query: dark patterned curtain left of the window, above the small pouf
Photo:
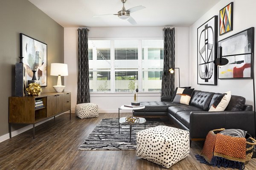
<svg viewBox="0 0 256 170"><path fill-rule="evenodd" d="M87 28L78 29L78 81L76 103L90 102Z"/></svg>

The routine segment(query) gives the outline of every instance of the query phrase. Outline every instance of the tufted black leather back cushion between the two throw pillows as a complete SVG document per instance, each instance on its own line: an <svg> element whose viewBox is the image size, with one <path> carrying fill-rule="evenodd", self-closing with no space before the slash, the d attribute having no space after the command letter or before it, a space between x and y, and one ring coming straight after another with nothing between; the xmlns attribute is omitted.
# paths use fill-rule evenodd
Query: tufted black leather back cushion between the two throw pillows
<svg viewBox="0 0 256 170"><path fill-rule="evenodd" d="M199 91L195 95L192 95L190 99L190 105L201 108L204 111L208 111L209 103L211 102L214 93Z"/></svg>

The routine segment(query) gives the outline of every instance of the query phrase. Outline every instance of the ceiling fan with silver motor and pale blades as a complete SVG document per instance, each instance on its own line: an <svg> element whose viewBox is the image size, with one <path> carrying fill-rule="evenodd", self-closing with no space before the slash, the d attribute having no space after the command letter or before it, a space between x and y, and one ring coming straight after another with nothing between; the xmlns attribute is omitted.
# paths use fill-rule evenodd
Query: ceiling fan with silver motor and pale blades
<svg viewBox="0 0 256 170"><path fill-rule="evenodd" d="M100 16L105 16L105 15L117 15L121 20L127 20L129 23L133 24L133 25L136 25L136 21L133 19L133 17L130 16L130 14L132 12L135 12L135 11L139 11L143 8L145 8L145 6L135 6L133 8L130 8L128 10L125 9L125 2L127 0L121 0L122 3L123 3L123 7L121 9L121 11L118 11L117 14L103 14L103 15L96 15L96 16L93 16L93 17L100 17Z"/></svg>

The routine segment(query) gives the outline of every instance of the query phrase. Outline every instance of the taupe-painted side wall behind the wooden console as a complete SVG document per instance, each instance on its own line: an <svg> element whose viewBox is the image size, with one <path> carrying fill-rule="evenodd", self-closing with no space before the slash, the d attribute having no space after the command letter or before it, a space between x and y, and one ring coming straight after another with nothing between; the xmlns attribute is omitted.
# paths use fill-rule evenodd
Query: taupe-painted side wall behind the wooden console
<svg viewBox="0 0 256 170"><path fill-rule="evenodd" d="M64 28L28 0L0 0L0 136L8 134L8 98L15 90L15 63L19 62L23 33L47 44L47 87L54 91L57 77L49 75L50 63L64 62ZM23 126L13 126L17 130Z"/></svg>

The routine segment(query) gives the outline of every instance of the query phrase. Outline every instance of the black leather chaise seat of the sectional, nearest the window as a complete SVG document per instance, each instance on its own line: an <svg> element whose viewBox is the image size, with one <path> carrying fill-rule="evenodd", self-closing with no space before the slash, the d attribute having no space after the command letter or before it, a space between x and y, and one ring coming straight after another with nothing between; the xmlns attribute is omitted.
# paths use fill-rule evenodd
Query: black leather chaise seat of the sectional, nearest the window
<svg viewBox="0 0 256 170"><path fill-rule="evenodd" d="M172 102L140 102L140 105L145 106L146 112L167 112L170 106L177 104ZM136 112L144 112L144 109L136 110Z"/></svg>

